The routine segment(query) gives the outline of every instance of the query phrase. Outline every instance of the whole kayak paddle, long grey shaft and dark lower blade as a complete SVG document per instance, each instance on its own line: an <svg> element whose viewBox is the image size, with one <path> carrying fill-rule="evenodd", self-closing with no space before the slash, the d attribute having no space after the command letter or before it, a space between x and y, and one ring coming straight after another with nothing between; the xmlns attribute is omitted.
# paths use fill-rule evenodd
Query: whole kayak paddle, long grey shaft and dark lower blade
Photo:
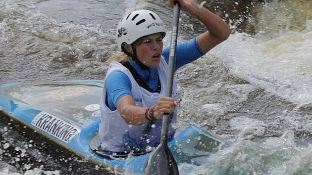
<svg viewBox="0 0 312 175"><path fill-rule="evenodd" d="M166 87L166 96L169 97L171 97L172 93L179 16L180 16L180 4L179 2L175 1L172 21L167 87ZM179 175L177 163L175 162L174 157L172 156L172 153L170 152L167 143L169 117L170 117L169 114L164 114L162 117L160 144L151 153L149 159L145 163L143 175Z"/></svg>

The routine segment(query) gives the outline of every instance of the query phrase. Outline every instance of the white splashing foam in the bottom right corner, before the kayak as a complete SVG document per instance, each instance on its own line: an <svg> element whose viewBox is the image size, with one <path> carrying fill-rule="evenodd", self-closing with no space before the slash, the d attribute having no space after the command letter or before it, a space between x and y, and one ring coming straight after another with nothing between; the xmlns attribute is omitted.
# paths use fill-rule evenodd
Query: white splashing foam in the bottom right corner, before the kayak
<svg viewBox="0 0 312 175"><path fill-rule="evenodd" d="M294 133L267 138L261 143L237 141L220 145L219 151L193 161L201 166L182 164L180 172L192 175L308 175L312 168L312 145L296 146Z"/></svg>

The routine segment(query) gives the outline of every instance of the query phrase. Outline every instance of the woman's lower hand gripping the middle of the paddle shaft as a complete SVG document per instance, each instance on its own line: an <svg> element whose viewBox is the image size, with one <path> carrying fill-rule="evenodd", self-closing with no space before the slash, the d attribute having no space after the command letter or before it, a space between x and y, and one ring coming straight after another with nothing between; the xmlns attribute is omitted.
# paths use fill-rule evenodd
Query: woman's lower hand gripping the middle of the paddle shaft
<svg viewBox="0 0 312 175"><path fill-rule="evenodd" d="M160 97L154 107L154 117L158 120L161 119L164 113L171 114L178 103L171 97Z"/></svg>

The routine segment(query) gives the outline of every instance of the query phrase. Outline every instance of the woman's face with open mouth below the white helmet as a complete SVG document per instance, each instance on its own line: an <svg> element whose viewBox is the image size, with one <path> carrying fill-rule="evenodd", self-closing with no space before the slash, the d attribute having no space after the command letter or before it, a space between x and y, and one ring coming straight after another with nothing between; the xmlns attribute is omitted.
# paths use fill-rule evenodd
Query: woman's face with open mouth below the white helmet
<svg viewBox="0 0 312 175"><path fill-rule="evenodd" d="M149 68L156 68L162 52L162 35L160 33L143 37L135 44L138 59Z"/></svg>

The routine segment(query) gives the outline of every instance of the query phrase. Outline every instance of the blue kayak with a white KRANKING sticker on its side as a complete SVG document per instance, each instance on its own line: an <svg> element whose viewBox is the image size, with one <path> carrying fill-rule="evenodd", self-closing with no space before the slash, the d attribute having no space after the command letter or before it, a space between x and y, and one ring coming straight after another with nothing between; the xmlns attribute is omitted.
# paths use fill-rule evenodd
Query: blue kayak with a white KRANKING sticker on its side
<svg viewBox="0 0 312 175"><path fill-rule="evenodd" d="M87 160L116 172L141 174L149 154L104 159L89 147L98 134L102 90L103 81L97 80L7 83L0 85L0 110ZM169 142L169 148L177 163L190 162L209 155L222 142L190 126Z"/></svg>

